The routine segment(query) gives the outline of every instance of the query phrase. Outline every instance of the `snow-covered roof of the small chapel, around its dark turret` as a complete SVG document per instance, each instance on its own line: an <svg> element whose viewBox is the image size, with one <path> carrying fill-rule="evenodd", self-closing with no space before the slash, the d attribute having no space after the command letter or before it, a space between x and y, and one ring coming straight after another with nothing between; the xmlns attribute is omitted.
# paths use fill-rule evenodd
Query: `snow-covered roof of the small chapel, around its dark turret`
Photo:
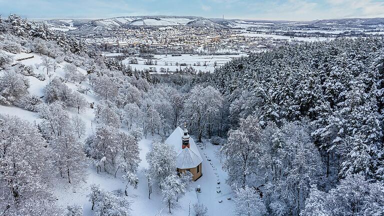
<svg viewBox="0 0 384 216"><path fill-rule="evenodd" d="M165 140L165 143L173 145L174 149L177 152L176 156L176 167L180 169L193 168L202 162L202 157L200 152L197 149L196 144L193 141L193 138L189 136L189 148L186 147L182 149L182 140L181 136L184 134L184 131L177 127Z"/></svg>

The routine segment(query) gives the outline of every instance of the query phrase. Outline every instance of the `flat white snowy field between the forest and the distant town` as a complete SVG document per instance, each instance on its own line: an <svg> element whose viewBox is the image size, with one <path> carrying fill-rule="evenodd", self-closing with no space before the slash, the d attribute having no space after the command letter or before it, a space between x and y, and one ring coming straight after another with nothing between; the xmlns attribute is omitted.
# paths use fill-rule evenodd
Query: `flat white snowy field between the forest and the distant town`
<svg viewBox="0 0 384 216"><path fill-rule="evenodd" d="M182 69L184 67L192 66L197 71L201 70L203 72L213 72L215 67L219 67L224 63L232 60L233 58L238 58L241 56L246 56L246 53L240 53L238 55L190 55L190 54L182 54L181 56L172 56L170 54L160 54L154 55L151 58L153 61L157 61L157 65L147 65L144 62L147 60L146 58L136 57L138 60L138 64L130 64L129 58L123 60L125 64L129 64L132 69L136 68L138 70L156 68L156 71L159 71L161 67L169 68L170 71L175 71L176 69ZM200 66L198 66L198 63ZM214 63L216 62L216 66ZM181 63L187 64L187 66L180 66ZM206 65L204 66L204 63ZM178 64L178 65L176 65ZM197 65L193 65L197 64Z"/></svg>

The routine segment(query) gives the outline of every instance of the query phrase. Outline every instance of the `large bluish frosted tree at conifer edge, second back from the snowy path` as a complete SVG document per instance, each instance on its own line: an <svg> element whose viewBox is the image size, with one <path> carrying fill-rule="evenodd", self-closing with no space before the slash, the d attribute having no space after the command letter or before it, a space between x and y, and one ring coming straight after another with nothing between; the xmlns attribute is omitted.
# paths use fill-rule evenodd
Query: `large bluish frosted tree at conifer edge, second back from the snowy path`
<svg viewBox="0 0 384 216"><path fill-rule="evenodd" d="M286 123L281 128L281 135L281 142L277 142L281 147L277 147L280 162L274 163L276 169L269 168L258 175L265 176L267 171L279 173L275 180L270 178L266 181L263 195L271 200L283 201L289 211L298 215L304 207L310 185L321 182L323 165L305 123ZM266 166L271 167L271 164Z"/></svg>

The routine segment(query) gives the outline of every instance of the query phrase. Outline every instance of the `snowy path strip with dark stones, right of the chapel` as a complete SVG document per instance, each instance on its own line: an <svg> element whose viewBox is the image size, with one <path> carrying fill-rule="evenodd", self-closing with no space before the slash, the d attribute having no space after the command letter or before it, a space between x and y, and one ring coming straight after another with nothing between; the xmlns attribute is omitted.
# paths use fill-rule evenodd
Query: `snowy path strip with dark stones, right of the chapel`
<svg viewBox="0 0 384 216"><path fill-rule="evenodd" d="M227 197L233 198L233 192L230 186L225 183L226 172L221 169L220 159L216 158L214 153L219 147L210 143L207 143L205 147L202 144L203 149L199 147L200 154L203 157L203 174L195 182L196 185L199 184L201 187L201 192L197 193L197 198L200 203L207 206L208 215L210 216L233 215L233 201L227 199ZM211 161L208 161L207 158L211 159ZM220 184L217 184L217 175L215 173L218 175ZM217 186L220 188L216 188ZM220 192L217 193L217 190L220 190ZM219 203L219 200L222 200L222 202Z"/></svg>

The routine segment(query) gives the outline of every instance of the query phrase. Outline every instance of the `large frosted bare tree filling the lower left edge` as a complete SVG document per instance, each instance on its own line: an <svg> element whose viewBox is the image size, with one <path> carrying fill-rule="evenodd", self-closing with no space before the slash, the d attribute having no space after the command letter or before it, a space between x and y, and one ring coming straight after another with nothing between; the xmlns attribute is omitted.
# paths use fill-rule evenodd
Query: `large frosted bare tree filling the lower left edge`
<svg viewBox="0 0 384 216"><path fill-rule="evenodd" d="M31 203L52 205L54 200L47 184L49 149L37 127L19 117L0 115L0 131L1 212L12 215L27 211Z"/></svg>

